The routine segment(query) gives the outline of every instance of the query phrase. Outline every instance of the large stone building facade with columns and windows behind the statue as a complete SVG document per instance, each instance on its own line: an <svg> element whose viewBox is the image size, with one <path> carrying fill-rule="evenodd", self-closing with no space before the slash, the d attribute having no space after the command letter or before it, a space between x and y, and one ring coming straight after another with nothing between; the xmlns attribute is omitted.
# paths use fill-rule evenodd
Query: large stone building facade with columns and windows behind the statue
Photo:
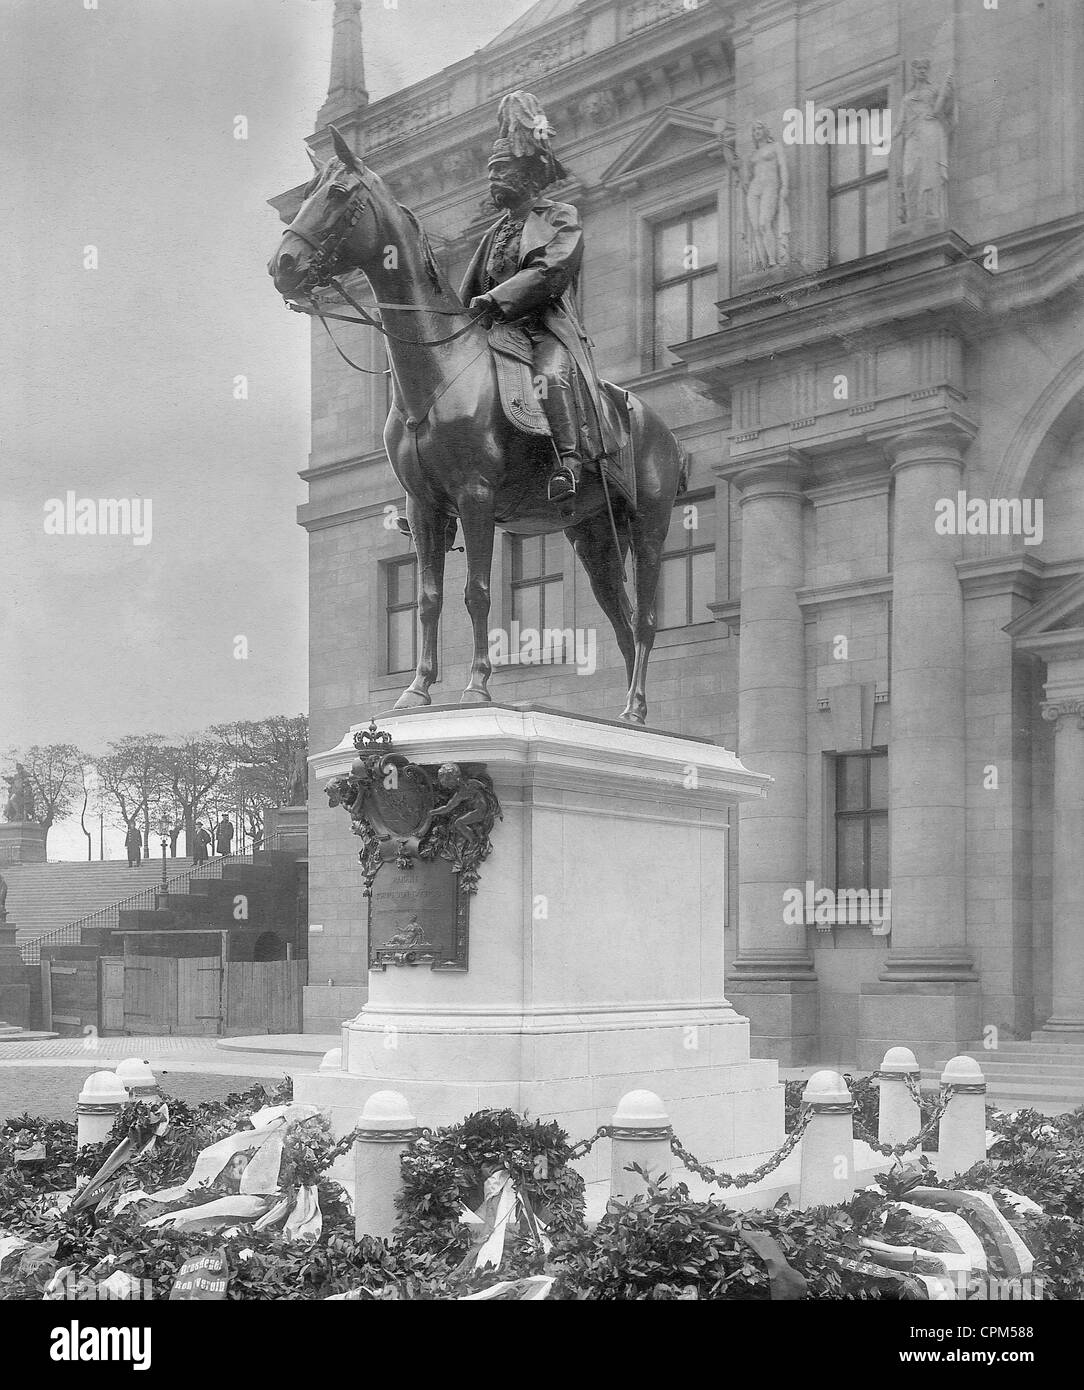
<svg viewBox="0 0 1084 1390"><path fill-rule="evenodd" d="M336 3L314 150L334 121L456 282L493 217L496 103L534 90L571 172L553 196L584 220L596 360L688 452L650 723L774 777L731 830L720 909L753 1055L870 1066L906 1038L933 1063L1084 1034L1084 8L539 0L372 103L359 11ZM338 329L384 366L375 334ZM314 324L314 749L414 664L386 407ZM438 701L467 681L449 559ZM620 712L624 666L561 537L502 537L493 594L496 630L596 642L577 663L513 635L495 698ZM314 1031L367 979L356 847L322 802Z"/></svg>

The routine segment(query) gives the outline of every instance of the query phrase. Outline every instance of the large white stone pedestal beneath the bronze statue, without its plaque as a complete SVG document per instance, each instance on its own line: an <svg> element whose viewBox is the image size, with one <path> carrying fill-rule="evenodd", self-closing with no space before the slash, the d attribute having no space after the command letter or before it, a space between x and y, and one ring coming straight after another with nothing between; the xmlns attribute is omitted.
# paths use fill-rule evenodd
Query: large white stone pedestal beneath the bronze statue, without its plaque
<svg viewBox="0 0 1084 1390"><path fill-rule="evenodd" d="M750 1061L749 1022L723 995L728 809L767 778L702 739L539 706L377 724L413 763L484 769L503 819L470 899L468 967L371 970L343 1070L296 1077L296 1098L336 1131L392 1088L421 1125L511 1106L578 1140L646 1088L702 1158L778 1147L777 1063ZM349 770L353 734L313 759L318 777ZM607 1161L596 1150L588 1176Z"/></svg>

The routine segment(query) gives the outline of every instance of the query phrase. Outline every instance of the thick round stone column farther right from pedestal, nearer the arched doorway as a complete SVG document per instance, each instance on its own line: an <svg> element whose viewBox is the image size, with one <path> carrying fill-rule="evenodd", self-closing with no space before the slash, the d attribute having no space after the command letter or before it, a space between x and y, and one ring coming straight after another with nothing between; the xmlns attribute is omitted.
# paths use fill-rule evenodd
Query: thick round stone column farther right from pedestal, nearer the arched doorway
<svg viewBox="0 0 1084 1390"><path fill-rule="evenodd" d="M966 940L964 649L959 535L934 530L962 488L963 425L899 431L892 461L892 667L888 834L892 944L880 983L862 987L859 1065L906 1038L952 1055L980 1030Z"/></svg>

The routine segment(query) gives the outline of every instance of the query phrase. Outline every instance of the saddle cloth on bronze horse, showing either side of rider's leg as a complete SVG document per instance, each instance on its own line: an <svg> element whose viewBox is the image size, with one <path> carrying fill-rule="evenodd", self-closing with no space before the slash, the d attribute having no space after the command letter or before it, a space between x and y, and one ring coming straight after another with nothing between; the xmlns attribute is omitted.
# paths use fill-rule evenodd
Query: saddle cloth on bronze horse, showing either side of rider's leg
<svg viewBox="0 0 1084 1390"><path fill-rule="evenodd" d="M535 363L531 338L517 324L496 324L489 329L489 349L496 370L504 418L521 434L549 439L546 411L535 391ZM637 470L632 459L628 392L610 381L599 381L599 399L606 416L603 425L585 400L578 370L573 373L584 457L606 473L606 482L635 509ZM606 436L603 439L603 428ZM609 448L607 448L609 445Z"/></svg>

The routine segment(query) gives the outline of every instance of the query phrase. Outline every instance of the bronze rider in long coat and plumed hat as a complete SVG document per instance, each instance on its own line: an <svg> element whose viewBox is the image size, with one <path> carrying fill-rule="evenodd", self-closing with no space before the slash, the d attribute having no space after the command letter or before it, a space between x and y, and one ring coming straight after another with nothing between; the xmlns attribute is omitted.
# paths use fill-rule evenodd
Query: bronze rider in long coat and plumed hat
<svg viewBox="0 0 1084 1390"><path fill-rule="evenodd" d="M580 486L585 456L616 449L573 302L584 232L570 203L541 196L567 175L550 149L553 128L538 99L529 92L506 96L498 124L489 192L503 211L478 245L460 297L491 321L514 321L529 338L555 445L548 495L564 502Z"/></svg>

